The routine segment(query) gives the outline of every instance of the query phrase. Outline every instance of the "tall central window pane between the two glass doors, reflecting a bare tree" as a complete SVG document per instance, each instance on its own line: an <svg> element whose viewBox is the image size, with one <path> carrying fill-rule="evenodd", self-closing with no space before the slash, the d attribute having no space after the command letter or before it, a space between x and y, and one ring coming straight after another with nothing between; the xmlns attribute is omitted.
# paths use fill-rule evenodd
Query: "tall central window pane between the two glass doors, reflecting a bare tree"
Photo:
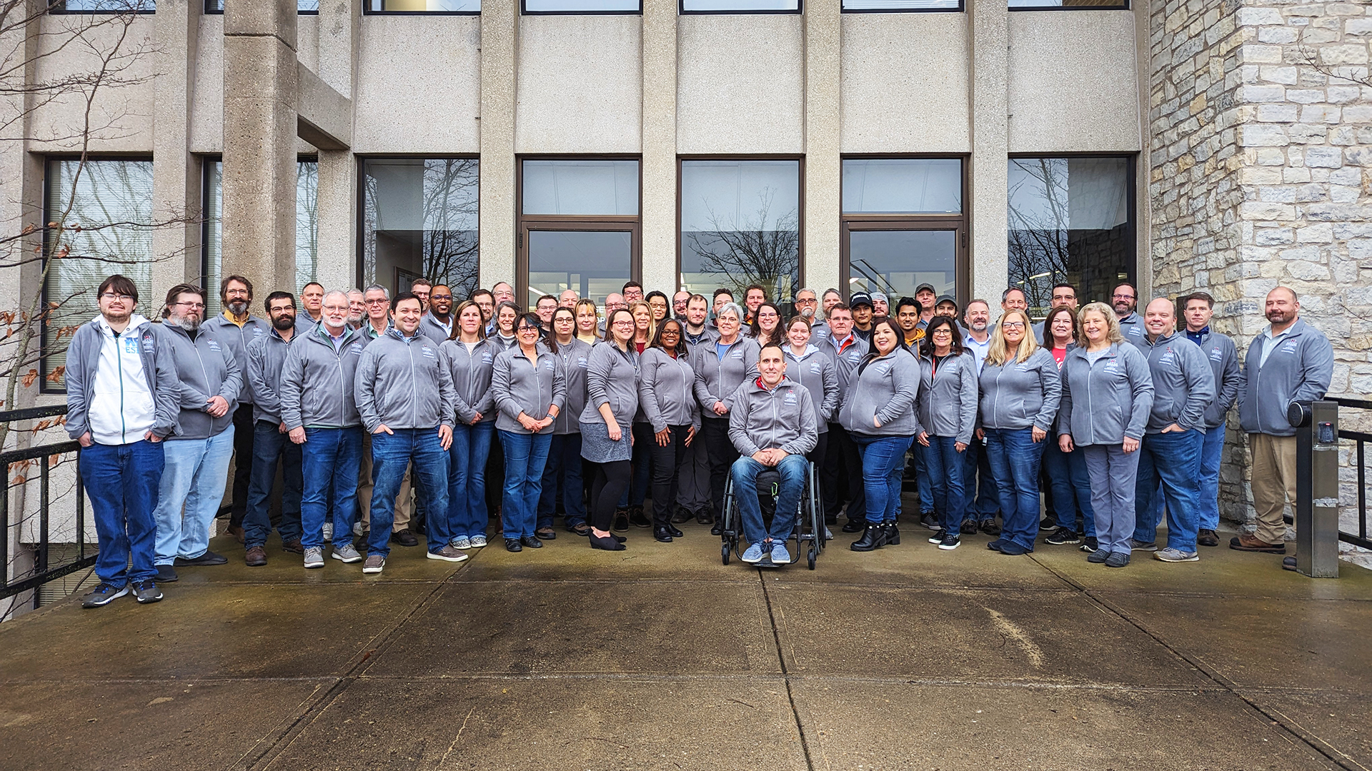
<svg viewBox="0 0 1372 771"><path fill-rule="evenodd" d="M681 288L707 298L761 284L768 298L800 285L800 162L681 162Z"/></svg>

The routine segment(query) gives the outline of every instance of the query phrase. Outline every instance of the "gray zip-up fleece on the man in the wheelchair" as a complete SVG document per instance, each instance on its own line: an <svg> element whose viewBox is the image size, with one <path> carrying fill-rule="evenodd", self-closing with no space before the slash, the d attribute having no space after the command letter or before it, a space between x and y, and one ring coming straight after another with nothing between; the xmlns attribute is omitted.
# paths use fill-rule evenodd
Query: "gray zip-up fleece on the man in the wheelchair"
<svg viewBox="0 0 1372 771"><path fill-rule="evenodd" d="M804 455L819 442L809 390L789 377L770 391L755 377L738 387L729 412L729 439L741 455L785 450Z"/></svg>

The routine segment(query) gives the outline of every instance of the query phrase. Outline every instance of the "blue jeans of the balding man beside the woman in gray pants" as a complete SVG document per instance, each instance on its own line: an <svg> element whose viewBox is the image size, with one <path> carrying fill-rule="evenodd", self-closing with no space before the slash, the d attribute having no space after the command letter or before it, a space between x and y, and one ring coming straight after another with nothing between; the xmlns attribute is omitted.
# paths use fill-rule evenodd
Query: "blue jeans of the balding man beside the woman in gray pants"
<svg viewBox="0 0 1372 771"><path fill-rule="evenodd" d="M1168 547L1196 550L1200 523L1200 447L1205 434L1196 429L1148 434L1139 446L1139 480L1135 486L1135 539L1154 541L1158 527L1143 512L1157 506L1158 483L1168 503ZM1151 525L1151 527L1148 527Z"/></svg>

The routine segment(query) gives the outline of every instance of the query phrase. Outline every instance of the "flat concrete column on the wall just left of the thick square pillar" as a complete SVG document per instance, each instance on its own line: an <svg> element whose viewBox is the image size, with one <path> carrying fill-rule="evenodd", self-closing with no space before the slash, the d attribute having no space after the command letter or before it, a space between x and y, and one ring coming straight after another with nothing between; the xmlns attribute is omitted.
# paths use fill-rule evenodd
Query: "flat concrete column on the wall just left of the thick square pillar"
<svg viewBox="0 0 1372 771"><path fill-rule="evenodd" d="M181 221L152 230L154 287L204 285L200 162L189 150L200 8L195 0L163 0L154 15L159 75L152 89L152 220ZM220 291L204 288L211 295Z"/></svg>

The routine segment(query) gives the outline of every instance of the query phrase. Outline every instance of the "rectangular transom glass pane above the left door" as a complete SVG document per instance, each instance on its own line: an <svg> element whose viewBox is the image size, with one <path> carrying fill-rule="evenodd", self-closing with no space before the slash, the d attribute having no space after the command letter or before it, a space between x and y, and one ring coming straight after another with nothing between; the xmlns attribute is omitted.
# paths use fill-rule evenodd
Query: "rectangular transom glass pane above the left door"
<svg viewBox="0 0 1372 771"><path fill-rule="evenodd" d="M638 215L638 161L524 161L524 214Z"/></svg>

